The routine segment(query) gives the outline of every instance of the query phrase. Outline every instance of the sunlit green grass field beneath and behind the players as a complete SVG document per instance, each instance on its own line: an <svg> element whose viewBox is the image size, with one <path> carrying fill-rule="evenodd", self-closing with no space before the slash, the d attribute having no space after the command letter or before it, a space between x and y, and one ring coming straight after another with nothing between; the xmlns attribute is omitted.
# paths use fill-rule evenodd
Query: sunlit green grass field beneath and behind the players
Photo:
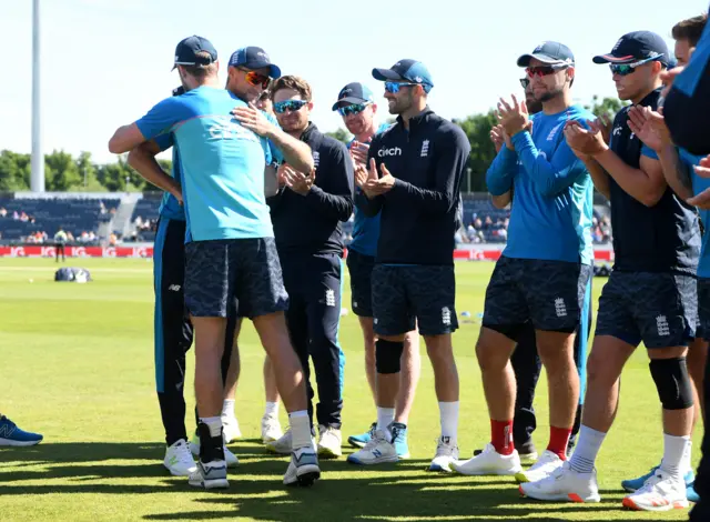
<svg viewBox="0 0 710 522"><path fill-rule="evenodd" d="M68 264L89 268L94 282L54 283L51 260L0 259L0 411L44 434L38 446L0 450L0 521L687 518L687 512L639 514L621 509L619 482L646 472L661 454L658 396L642 350L626 369L617 423L599 458L600 504L541 504L521 499L511 479L426 473L436 446L438 410L424 348L409 424L413 459L375 469L353 468L344 459L322 462L323 480L314 488L287 490L281 482L287 460L265 454L257 440L263 354L251 323L240 339L243 370L236 413L244 439L231 445L241 465L230 474L227 491L194 490L162 466L164 443L153 384L152 263L114 259ZM476 318L483 310L491 268L457 264L459 313L469 311ZM595 303L602 282L595 281ZM344 303L349 304L349 295ZM476 322L463 323L454 338L462 381L459 445L466 458L489 436L474 352L478 328ZM347 354L347 435L369 425L374 406L354 315L343 318L341 332ZM191 360L189 365L194 368ZM548 438L546 396L541 380L538 445ZM187 404L190 411L192 392Z"/></svg>

